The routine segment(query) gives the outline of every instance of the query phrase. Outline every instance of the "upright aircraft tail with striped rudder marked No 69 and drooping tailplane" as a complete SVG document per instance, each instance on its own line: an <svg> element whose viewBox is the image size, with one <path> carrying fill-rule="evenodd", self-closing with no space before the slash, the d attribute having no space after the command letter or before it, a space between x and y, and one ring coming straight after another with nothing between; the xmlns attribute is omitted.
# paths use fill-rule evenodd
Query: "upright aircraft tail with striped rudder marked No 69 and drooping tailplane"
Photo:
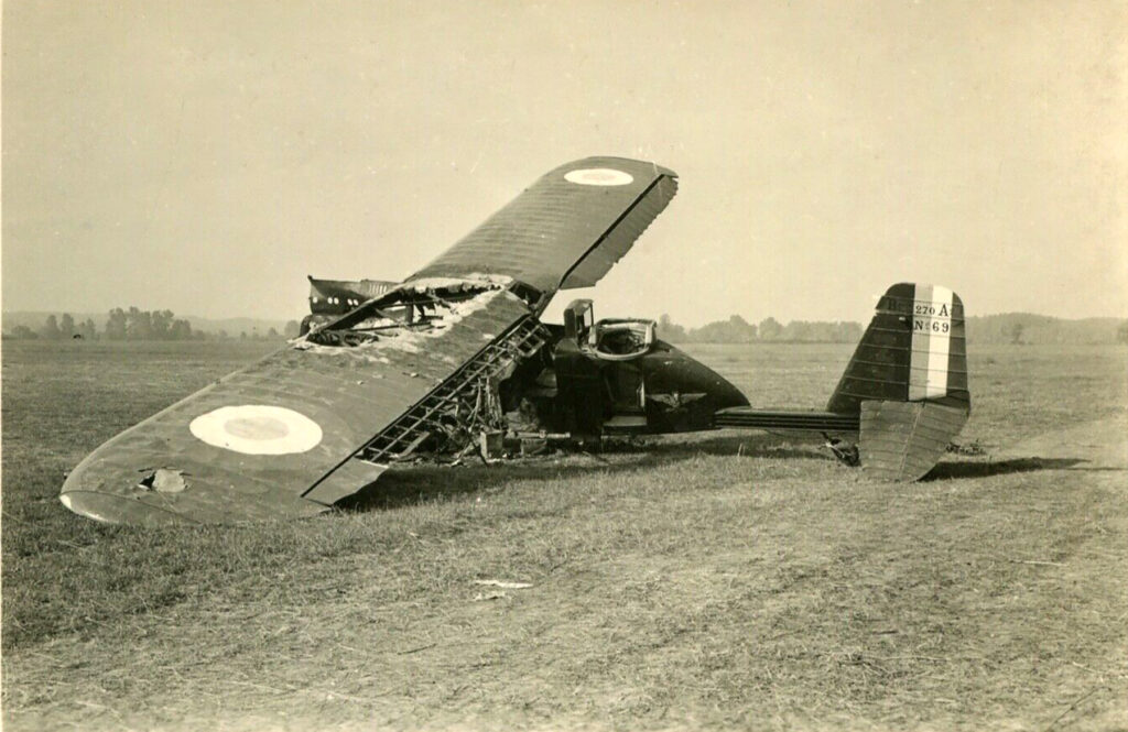
<svg viewBox="0 0 1128 732"><path fill-rule="evenodd" d="M915 480L936 465L971 409L963 302L938 285L885 291L827 411L860 415L862 466Z"/></svg>

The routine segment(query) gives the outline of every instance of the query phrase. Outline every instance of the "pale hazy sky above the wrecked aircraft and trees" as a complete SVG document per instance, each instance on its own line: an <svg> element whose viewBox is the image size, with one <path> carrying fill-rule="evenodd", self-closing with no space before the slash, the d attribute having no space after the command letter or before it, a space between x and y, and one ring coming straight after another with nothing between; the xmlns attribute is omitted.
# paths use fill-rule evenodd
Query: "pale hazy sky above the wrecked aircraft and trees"
<svg viewBox="0 0 1128 732"><path fill-rule="evenodd" d="M548 169L680 193L598 317L1128 316L1123 2L3 3L3 308L300 317Z"/></svg>

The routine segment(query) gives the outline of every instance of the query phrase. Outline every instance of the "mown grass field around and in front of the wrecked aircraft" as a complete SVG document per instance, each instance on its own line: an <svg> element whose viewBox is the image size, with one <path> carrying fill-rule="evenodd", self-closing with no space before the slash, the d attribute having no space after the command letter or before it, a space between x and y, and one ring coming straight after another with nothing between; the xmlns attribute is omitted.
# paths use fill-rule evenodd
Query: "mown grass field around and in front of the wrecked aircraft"
<svg viewBox="0 0 1128 732"><path fill-rule="evenodd" d="M6 729L1128 729L1123 349L972 344L988 456L910 485L716 432L412 469L291 523L59 503L263 347L3 344ZM849 351L691 349L810 407Z"/></svg>

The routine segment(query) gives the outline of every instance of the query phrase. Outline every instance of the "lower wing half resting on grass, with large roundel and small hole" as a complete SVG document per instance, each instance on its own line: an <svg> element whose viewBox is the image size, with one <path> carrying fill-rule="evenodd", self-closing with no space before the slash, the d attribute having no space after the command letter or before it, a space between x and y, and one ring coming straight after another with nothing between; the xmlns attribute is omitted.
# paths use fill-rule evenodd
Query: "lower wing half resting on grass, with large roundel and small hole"
<svg viewBox="0 0 1128 732"><path fill-rule="evenodd" d="M528 317L523 301L495 289L430 329L288 345L95 450L62 501L115 523L318 513L382 471L352 459L373 435Z"/></svg>

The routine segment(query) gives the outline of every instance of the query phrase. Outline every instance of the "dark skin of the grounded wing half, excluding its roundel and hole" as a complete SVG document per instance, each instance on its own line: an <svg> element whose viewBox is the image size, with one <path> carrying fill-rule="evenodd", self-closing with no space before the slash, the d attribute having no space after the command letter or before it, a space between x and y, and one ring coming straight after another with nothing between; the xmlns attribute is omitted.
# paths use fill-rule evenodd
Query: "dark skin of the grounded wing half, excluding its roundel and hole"
<svg viewBox="0 0 1128 732"><path fill-rule="evenodd" d="M100 447L71 473L64 502L80 513L81 504L97 505L98 518L129 522L148 509L203 522L317 513L325 506L302 499L303 491L526 315L520 299L497 291L488 306L412 347L288 346ZM190 431L201 415L246 405L297 412L319 426L320 441L303 452L247 455L208 444ZM160 467L183 471L185 490L161 493L138 485L143 471Z"/></svg>

